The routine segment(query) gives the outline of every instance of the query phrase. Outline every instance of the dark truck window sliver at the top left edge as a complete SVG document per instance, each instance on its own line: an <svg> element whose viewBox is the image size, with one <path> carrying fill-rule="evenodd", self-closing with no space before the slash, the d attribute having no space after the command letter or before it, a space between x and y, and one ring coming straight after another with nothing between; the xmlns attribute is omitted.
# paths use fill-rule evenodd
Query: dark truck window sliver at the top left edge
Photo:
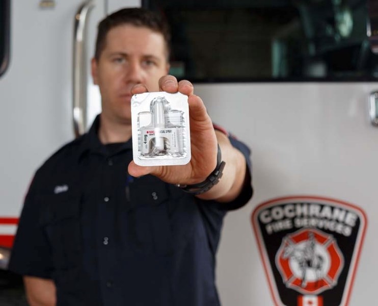
<svg viewBox="0 0 378 306"><path fill-rule="evenodd" d="M0 1L0 77L9 64L10 0Z"/></svg>

